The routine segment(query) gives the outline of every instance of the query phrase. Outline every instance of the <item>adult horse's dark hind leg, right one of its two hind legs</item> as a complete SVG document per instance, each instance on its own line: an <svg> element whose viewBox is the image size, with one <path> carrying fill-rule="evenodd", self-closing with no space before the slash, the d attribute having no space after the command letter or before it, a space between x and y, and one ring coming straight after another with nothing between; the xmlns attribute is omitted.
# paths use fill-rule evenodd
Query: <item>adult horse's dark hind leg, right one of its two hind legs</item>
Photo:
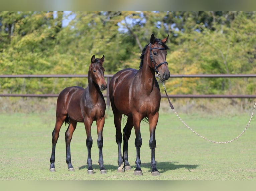
<svg viewBox="0 0 256 191"><path fill-rule="evenodd" d="M131 136L132 127L133 127L133 119L132 119L132 116L129 116L127 118L127 122L124 127L124 136L123 136L123 140L124 140L123 161L124 161L125 170L131 170L131 166L128 162L128 140Z"/></svg>

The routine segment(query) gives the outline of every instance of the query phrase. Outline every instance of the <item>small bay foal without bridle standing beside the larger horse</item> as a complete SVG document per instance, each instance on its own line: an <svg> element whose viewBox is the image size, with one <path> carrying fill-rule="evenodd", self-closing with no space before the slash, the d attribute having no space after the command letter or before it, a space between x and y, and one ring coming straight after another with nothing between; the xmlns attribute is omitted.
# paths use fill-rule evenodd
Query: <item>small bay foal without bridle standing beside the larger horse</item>
<svg viewBox="0 0 256 191"><path fill-rule="evenodd" d="M57 98L56 106L56 123L52 132L52 151L50 157L50 171L55 171L55 146L59 137L59 130L63 122L69 123L69 127L65 133L66 140L66 162L68 164L68 170L74 171L74 167L71 164L70 142L73 132L76 129L77 122L83 122L86 130L86 146L88 150L88 174L93 174L91 148L93 139L91 136L91 126L93 121L96 121L97 133L98 133L98 148L99 148L99 164L100 172L106 173L106 169L103 165L103 126L105 123L105 110L106 103L101 93L101 90L106 90L107 83L104 79L103 62L105 57L101 59L95 58L93 55L91 58L91 65L88 71L88 87L86 89L73 86L65 88L60 92Z"/></svg>

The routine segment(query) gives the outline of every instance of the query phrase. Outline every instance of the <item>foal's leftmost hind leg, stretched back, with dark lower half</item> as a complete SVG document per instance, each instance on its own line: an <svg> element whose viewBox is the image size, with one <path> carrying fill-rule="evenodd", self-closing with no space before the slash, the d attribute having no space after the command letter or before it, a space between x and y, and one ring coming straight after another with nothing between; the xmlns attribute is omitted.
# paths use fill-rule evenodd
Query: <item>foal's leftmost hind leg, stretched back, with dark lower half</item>
<svg viewBox="0 0 256 191"><path fill-rule="evenodd" d="M55 148L56 148L56 144L57 144L57 140L59 137L59 130L61 125L63 124L63 122L65 121L66 116L62 116L62 117L56 117L56 122L55 122L55 127L52 131L52 149L51 149L51 157L50 157L50 171L54 172L55 171Z"/></svg>

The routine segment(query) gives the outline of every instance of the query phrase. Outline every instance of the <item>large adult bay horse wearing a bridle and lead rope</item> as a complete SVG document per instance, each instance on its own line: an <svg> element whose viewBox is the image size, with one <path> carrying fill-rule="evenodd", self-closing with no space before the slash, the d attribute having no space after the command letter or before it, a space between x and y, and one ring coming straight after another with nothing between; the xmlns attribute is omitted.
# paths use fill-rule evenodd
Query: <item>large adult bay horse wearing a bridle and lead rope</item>
<svg viewBox="0 0 256 191"><path fill-rule="evenodd" d="M135 175L142 175L140 168L140 147L142 139L140 134L140 122L143 118L149 121L149 147L151 149L152 175L159 175L155 162L155 129L158 121L158 111L160 106L160 89L155 79L155 72L160 75L161 81L170 77L167 67L166 55L168 47L166 41L169 35L163 40L156 39L151 35L150 43L144 47L141 54L140 69L124 69L117 72L109 84L111 107L114 113L114 123L116 127L116 142L118 145L118 170L123 172L131 169L128 162L128 140L131 129L135 130L136 147L136 169ZM121 154L122 115L127 115L127 122L123 129L123 157ZM124 162L124 165L123 165ZM124 166L124 167L123 167Z"/></svg>

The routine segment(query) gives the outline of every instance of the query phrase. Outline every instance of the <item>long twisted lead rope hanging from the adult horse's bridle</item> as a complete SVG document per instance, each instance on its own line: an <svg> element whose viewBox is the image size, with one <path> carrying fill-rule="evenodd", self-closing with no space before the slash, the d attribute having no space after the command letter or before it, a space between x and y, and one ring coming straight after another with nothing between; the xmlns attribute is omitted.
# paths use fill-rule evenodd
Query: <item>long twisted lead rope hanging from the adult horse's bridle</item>
<svg viewBox="0 0 256 191"><path fill-rule="evenodd" d="M159 76L158 73L157 73L157 75L158 75L158 78L160 79L160 76ZM161 80L161 79L160 79L160 80ZM226 142L217 142L217 141L213 141L213 140L210 140L210 139L208 139L208 138L205 138L205 137L203 137L202 135L198 134L198 133L197 133L196 131L194 131L193 129L191 129L191 128L179 117L179 115L177 114L177 112L174 110L174 107L173 107L173 105L171 104L171 101L170 101L170 99L169 99L169 97L168 97L168 95L167 95L167 93L166 93L164 81L162 81L162 83L163 83L164 92L165 92L165 94L166 94L166 96L167 96L167 99L168 99L168 101L169 101L170 107L171 107L171 109L174 111L174 113L177 115L177 117L179 118L179 120L180 120L188 129L190 129L190 130L191 130L192 132L194 132L196 135L202 137L203 139L205 139L205 140L207 140L207 141L210 141L210 142L212 142L212 143L220 143L220 144L225 144L225 143L233 142L234 140L238 139L238 138L246 131L246 129L249 127L249 125L250 125L250 123L251 123L251 120L252 120L252 117L253 117L253 113L254 113L254 110L255 110L255 107L256 107L256 102L255 102L255 104L254 104L254 107L253 107L253 110L252 110L252 115L251 115L251 118L250 118L248 124L246 125L245 129L243 130L243 132L242 132L240 135L238 135L236 138L234 138L234 139L232 139L232 140L230 140L230 141L226 141Z"/></svg>

